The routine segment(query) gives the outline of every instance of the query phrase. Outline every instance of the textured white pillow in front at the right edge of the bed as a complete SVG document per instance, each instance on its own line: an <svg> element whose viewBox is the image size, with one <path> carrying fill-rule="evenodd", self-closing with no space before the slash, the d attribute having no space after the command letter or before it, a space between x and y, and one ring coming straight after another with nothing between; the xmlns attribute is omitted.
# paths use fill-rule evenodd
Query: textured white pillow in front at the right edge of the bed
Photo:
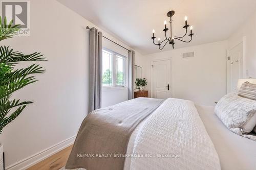
<svg viewBox="0 0 256 170"><path fill-rule="evenodd" d="M231 92L218 102L215 113L223 124L239 135L250 133L256 125L256 101Z"/></svg>

